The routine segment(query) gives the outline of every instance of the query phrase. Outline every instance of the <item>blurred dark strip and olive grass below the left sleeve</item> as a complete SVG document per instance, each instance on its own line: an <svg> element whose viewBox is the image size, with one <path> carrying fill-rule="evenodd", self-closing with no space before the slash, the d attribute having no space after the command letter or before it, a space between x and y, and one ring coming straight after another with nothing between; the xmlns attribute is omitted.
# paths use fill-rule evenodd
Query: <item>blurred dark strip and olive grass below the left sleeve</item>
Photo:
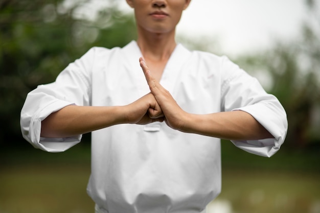
<svg viewBox="0 0 320 213"><path fill-rule="evenodd" d="M86 194L90 175L88 144L62 153L0 148L0 213L86 213L94 202Z"/></svg>

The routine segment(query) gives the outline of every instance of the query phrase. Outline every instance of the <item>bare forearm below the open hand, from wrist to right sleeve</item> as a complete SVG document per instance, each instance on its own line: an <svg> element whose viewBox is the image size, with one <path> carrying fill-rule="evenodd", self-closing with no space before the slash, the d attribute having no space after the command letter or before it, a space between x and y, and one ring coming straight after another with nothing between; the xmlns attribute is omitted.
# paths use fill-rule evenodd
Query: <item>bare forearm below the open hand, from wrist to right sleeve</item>
<svg viewBox="0 0 320 213"><path fill-rule="evenodd" d="M244 111L184 116L182 132L230 140L256 140L273 136L249 113Z"/></svg>

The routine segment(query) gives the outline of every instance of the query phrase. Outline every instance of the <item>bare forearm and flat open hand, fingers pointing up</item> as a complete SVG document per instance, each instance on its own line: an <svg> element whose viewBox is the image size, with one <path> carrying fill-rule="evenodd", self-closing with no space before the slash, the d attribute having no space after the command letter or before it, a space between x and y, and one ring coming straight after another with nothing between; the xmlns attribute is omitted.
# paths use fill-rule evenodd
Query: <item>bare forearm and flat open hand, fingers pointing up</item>
<svg viewBox="0 0 320 213"><path fill-rule="evenodd" d="M165 122L173 129L232 140L273 138L254 117L244 111L219 112L212 114L190 114L182 110L171 94L150 74L141 58L140 65L159 106Z"/></svg>

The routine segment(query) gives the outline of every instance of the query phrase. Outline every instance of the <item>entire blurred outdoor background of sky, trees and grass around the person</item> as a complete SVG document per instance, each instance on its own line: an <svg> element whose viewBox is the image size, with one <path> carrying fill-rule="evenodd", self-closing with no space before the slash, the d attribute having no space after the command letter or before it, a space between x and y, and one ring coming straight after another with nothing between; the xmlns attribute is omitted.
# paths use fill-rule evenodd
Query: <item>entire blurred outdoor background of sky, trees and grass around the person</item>
<svg viewBox="0 0 320 213"><path fill-rule="evenodd" d="M189 49L226 55L287 111L271 158L222 141L222 193L208 213L320 212L320 6L315 0L193 0L177 27ZM0 213L94 212L90 134L63 153L20 133L26 95L92 46L136 38L125 1L0 0Z"/></svg>

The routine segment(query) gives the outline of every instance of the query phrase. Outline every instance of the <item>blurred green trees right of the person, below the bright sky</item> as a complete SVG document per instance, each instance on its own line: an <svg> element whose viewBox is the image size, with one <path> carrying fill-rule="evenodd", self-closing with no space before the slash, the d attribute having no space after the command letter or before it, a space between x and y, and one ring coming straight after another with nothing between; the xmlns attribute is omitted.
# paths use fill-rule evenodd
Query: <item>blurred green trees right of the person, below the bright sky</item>
<svg viewBox="0 0 320 213"><path fill-rule="evenodd" d="M299 148L320 142L320 13L315 1L308 0L306 5L312 16L302 26L301 38L238 59L246 70L268 72L264 78L270 78L269 92L287 112L285 146Z"/></svg>

